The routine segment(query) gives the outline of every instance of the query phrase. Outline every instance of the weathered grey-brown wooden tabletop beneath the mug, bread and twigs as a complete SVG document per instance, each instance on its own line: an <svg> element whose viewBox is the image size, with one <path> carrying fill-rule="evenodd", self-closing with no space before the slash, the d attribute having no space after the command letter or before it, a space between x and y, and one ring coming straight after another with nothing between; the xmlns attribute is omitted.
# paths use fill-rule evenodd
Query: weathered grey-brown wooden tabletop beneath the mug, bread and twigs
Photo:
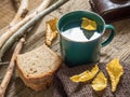
<svg viewBox="0 0 130 97"><path fill-rule="evenodd" d="M35 1L35 0L34 0ZM36 0L37 1L37 0ZM63 14L75 11L75 10L87 10L90 11L89 0L69 0L67 3L55 10L54 12L47 15L39 24L35 27L31 33L28 34L26 43L23 47L22 53L31 51L44 43L44 23L53 17L60 17ZM116 29L116 36L114 40L107 46L101 51L101 63L108 63L115 57L118 57L121 61L130 63L130 18L120 22L113 23ZM107 33L107 32L106 32ZM104 34L104 38L107 34ZM54 41L51 48L60 54L58 38ZM8 51L4 59L8 60L11 57L13 48ZM0 67L0 78L4 75L6 66ZM11 83L6 89L5 97L53 97L53 85L47 91L34 92L26 87L22 80L15 73L11 80Z"/></svg>

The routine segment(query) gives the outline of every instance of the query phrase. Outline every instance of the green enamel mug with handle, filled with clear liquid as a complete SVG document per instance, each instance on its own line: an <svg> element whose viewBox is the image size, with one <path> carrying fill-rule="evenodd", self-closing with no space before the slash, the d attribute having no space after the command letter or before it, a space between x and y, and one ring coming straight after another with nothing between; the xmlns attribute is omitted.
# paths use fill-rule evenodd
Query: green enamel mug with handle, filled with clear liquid
<svg viewBox="0 0 130 97"><path fill-rule="evenodd" d="M81 28L84 17L96 23L96 30L89 31ZM101 47L109 44L115 36L114 26L105 24L99 14L89 11L74 11L64 14L57 22L57 30L61 53L68 67L98 63ZM105 41L102 40L104 32L109 32Z"/></svg>

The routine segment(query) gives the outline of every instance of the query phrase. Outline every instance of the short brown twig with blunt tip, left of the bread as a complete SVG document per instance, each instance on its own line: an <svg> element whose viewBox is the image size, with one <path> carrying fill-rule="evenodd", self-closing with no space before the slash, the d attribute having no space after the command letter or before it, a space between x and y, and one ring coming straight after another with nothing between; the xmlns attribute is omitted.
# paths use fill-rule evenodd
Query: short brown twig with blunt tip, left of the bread
<svg viewBox="0 0 130 97"><path fill-rule="evenodd" d="M14 68L15 68L15 59L16 59L16 56L20 54L21 50L22 50L22 46L25 42L25 39L22 38L20 40L20 42L17 43L15 50L14 50L14 53L13 53L13 56L11 58L11 61L10 61L10 65L6 69L6 73L0 84L0 97L4 97L4 94L5 94L5 89L10 83L10 80L11 80L11 77L13 74L13 71L14 71Z"/></svg>

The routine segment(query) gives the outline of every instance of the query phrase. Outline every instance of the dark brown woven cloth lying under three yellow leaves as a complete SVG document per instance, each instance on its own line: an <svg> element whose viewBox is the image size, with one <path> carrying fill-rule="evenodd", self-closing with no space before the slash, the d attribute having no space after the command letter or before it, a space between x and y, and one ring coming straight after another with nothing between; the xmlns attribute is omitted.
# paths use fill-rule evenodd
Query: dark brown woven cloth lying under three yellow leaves
<svg viewBox="0 0 130 97"><path fill-rule="evenodd" d="M108 78L105 64L99 64L99 68L107 78L107 87L96 93L91 87L91 82L75 83L69 80L74 74L91 70L93 65L83 65L75 68L61 67L54 80L53 97L130 97L130 65L121 63L123 67L123 75L121 77L115 93L110 91L110 80Z"/></svg>

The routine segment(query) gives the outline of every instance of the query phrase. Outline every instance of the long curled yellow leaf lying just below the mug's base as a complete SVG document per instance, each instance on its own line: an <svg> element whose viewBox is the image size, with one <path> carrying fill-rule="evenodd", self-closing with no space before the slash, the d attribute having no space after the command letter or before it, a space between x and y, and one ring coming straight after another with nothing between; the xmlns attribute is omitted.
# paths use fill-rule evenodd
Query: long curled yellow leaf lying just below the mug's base
<svg viewBox="0 0 130 97"><path fill-rule="evenodd" d="M91 71L87 70L80 74L73 75L69 79L73 82L87 82L87 81L93 79L98 72L99 72L99 67L98 67L98 65L95 65L95 67Z"/></svg>

